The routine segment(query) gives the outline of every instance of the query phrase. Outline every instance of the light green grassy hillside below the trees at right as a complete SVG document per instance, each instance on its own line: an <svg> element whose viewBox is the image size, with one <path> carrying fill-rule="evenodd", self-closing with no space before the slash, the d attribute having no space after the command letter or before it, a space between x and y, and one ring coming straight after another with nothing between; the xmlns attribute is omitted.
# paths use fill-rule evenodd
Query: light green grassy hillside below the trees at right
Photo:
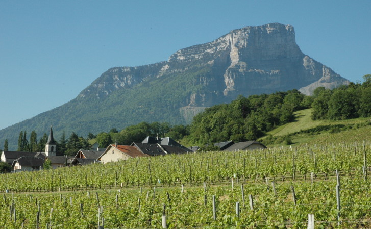
<svg viewBox="0 0 371 229"><path fill-rule="evenodd" d="M279 126L271 130L266 136L259 140L266 139L269 135L273 137L291 136L292 145L300 144L328 144L328 143L342 143L342 142L362 142L371 140L371 125L369 125L370 118L354 118L347 120L312 120L312 109L305 109L294 113L295 120L293 122ZM305 130L315 129L318 126L329 126L334 129L335 125L344 125L345 130L336 131L314 131L311 133L298 133ZM338 132L338 133L334 133ZM268 144L269 145L269 144ZM285 145L284 142L274 145Z"/></svg>

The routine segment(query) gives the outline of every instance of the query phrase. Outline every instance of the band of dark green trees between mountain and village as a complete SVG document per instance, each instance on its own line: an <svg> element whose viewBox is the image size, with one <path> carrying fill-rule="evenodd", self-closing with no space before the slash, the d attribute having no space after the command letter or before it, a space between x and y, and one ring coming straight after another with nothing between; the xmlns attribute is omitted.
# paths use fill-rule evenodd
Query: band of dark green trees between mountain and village
<svg viewBox="0 0 371 229"><path fill-rule="evenodd" d="M212 145L224 141L256 140L279 125L294 120L294 112L312 108L312 119L349 119L371 116L371 74L364 75L364 82L350 83L335 89L318 87L313 96L301 94L293 89L273 94L238 96L229 104L207 108L197 114L189 125L171 125L167 122L140 122L118 131L88 134L85 139L74 132L68 139L63 132L57 141L57 152L61 155L75 155L79 149L90 148L88 140L96 139L98 147L105 148L117 143L130 145L141 142L147 136L170 137L184 140L193 145ZM48 136L37 140L35 131L27 140L27 132L21 131L18 151L44 151ZM8 142L4 142L4 150Z"/></svg>

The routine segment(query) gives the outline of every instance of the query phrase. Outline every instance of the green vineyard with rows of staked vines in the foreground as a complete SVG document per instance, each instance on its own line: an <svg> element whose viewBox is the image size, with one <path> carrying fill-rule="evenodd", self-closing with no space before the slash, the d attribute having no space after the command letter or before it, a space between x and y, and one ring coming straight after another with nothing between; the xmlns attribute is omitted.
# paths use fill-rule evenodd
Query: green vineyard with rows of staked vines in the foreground
<svg viewBox="0 0 371 229"><path fill-rule="evenodd" d="M313 214L370 228L370 154L364 141L1 174L0 227L307 228Z"/></svg>

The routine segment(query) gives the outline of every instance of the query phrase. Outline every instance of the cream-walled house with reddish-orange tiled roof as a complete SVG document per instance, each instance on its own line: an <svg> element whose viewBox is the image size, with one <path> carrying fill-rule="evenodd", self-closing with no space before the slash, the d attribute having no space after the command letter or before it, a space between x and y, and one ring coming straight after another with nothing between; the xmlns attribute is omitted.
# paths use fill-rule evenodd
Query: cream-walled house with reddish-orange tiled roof
<svg viewBox="0 0 371 229"><path fill-rule="evenodd" d="M130 158L148 157L135 146L111 144L106 151L98 158L102 163L128 160Z"/></svg>

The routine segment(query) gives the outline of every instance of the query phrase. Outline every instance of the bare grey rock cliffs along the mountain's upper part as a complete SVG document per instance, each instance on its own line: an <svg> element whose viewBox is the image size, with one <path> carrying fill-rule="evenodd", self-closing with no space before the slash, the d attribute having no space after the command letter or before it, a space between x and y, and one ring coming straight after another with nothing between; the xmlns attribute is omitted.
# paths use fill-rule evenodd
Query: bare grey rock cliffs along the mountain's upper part
<svg viewBox="0 0 371 229"><path fill-rule="evenodd" d="M180 49L168 61L140 67L116 67L81 92L97 98L140 82L172 77L179 72L207 66L212 77L199 75L203 87L190 93L187 106L207 107L230 101L237 95L285 91L293 88L311 94L319 86L334 88L349 81L303 54L295 42L292 26L271 23L244 27L205 44ZM200 93L201 92L201 93Z"/></svg>

